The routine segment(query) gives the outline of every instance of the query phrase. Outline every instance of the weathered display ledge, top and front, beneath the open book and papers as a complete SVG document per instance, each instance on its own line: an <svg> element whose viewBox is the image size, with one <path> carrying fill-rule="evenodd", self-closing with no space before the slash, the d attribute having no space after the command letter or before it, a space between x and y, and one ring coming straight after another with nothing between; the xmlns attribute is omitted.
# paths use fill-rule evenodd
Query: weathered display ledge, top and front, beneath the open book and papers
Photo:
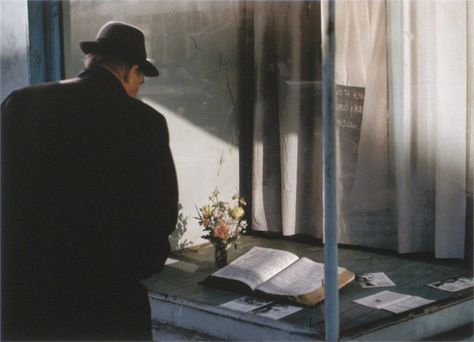
<svg viewBox="0 0 474 342"><path fill-rule="evenodd" d="M253 246L299 251L300 255L321 260L319 246L309 247L293 241L266 240L243 236L240 248L231 258ZM157 341L322 341L324 340L323 303L304 308L291 317L272 320L250 313L239 313L219 305L243 294L201 286L214 272L212 249L184 250L177 261L165 266L143 284L148 289ZM234 253L234 254L232 254ZM340 251L341 264L356 272L368 268L390 274L397 286L394 291L434 300L413 310L393 314L353 303L377 289L362 289L352 283L340 293L341 340L413 341L447 334L473 321L473 289L458 293L425 286L459 274L471 274L462 262L434 260L427 256L400 256L364 249ZM466 332L466 335L468 332ZM471 336L472 340L472 336Z"/></svg>

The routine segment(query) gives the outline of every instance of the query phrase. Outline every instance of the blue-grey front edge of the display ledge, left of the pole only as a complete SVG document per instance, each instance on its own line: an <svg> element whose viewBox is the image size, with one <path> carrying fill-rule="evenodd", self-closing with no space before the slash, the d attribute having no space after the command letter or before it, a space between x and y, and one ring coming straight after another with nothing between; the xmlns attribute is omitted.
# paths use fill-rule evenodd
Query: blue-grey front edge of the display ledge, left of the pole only
<svg viewBox="0 0 474 342"><path fill-rule="evenodd" d="M218 306L150 293L153 322L234 341L323 341L312 329Z"/></svg>

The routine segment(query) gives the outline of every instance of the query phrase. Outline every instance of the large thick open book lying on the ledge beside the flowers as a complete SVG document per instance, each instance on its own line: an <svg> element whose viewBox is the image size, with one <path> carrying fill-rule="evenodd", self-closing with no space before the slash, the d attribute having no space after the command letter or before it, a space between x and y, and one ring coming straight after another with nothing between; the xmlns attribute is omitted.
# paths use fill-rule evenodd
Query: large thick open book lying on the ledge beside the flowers
<svg viewBox="0 0 474 342"><path fill-rule="evenodd" d="M338 268L339 288L355 275ZM270 299L314 305L324 299L324 264L272 248L253 247L203 284Z"/></svg>

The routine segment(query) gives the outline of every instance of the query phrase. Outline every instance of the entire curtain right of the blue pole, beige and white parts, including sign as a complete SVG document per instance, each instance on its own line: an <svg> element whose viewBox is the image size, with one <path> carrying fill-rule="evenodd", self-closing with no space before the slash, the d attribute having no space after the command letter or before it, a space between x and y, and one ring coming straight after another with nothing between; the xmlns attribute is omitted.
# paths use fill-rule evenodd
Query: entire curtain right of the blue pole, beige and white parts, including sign
<svg viewBox="0 0 474 342"><path fill-rule="evenodd" d="M464 257L472 229L470 6L336 2L340 242Z"/></svg>

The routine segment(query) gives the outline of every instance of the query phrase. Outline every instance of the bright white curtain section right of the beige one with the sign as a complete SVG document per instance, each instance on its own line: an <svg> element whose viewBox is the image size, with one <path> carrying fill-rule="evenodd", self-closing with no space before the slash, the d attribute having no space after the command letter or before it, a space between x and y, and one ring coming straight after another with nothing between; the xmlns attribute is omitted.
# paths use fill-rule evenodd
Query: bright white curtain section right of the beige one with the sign
<svg viewBox="0 0 474 342"><path fill-rule="evenodd" d="M466 225L473 153L468 3L399 1L390 7L389 18L403 14L391 23L401 34L391 35L398 68L391 119L400 252L434 249L439 258L462 258L466 229L472 229Z"/></svg>

